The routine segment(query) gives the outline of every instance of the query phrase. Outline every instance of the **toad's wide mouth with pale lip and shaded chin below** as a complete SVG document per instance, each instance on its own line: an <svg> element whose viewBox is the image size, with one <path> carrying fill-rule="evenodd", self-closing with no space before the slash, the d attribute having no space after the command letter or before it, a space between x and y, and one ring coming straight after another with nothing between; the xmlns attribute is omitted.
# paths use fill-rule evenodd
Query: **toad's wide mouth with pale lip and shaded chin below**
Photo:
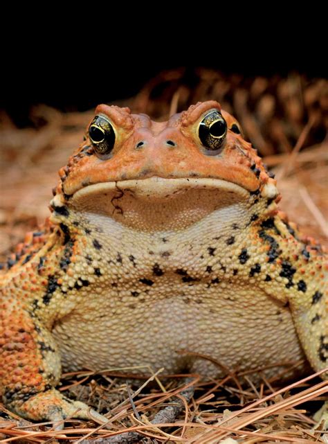
<svg viewBox="0 0 328 444"><path fill-rule="evenodd" d="M236 216L245 211L249 196L221 179L149 177L86 186L72 195L69 206L149 231L185 228L214 212Z"/></svg>

